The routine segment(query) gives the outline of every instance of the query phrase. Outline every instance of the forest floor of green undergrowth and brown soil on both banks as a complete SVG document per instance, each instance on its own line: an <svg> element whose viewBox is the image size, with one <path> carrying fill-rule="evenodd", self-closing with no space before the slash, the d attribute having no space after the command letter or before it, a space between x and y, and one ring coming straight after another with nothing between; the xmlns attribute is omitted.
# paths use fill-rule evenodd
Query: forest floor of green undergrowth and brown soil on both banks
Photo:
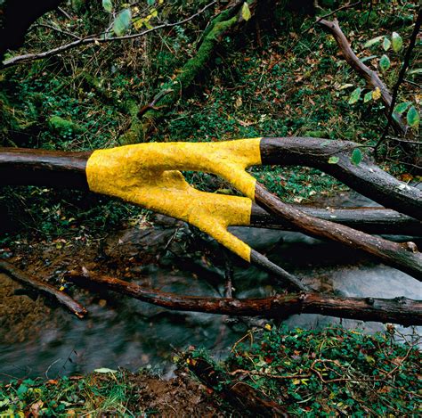
<svg viewBox="0 0 422 418"><path fill-rule="evenodd" d="M382 40L365 45L376 37L391 38L392 30L408 39L416 6L414 2L373 3L370 13L345 10L337 12L337 19L353 49L372 69L379 70L381 55L390 55L391 67L383 78L391 89L401 66L399 54L386 52ZM369 90L345 63L334 38L314 25L314 17L283 13L277 19L267 16L235 37L225 37L203 77L183 92L149 140L302 135L375 143L385 125L384 106L377 100L363 101ZM36 134L14 138L13 144L67 151L117 146L130 118L103 101L87 75L100 80L118 101L135 98L144 104L192 56L198 33L196 27L180 28L145 38L142 47L104 45L94 60L85 59L84 53L69 54L5 71L0 86L16 101L17 117L24 122L36 120L38 129ZM50 34L32 42L43 50L52 40ZM415 61L420 61L420 49ZM407 77L399 102L418 105L420 70ZM351 103L351 94L359 86L361 100ZM47 128L45 120L52 116L75 121L81 130ZM3 136L0 139L4 141ZM383 168L403 181L420 181L409 167L397 164L402 157L398 148L384 151ZM301 203L345 190L343 184L312 168L253 172L285 201ZM234 193L214 177L185 175L199 189ZM145 210L120 201L37 187L5 187L0 216L5 219L0 225L0 257L57 286L63 284L57 272L75 261L77 266L125 277L127 264L121 259L107 265L98 260L104 237L150 219ZM53 309L28 293L17 295L20 286L5 276L0 275L0 282L0 324L6 330L2 339L23 341L43 326L42 318L52 315ZM227 388L237 381L246 382L289 414L412 416L418 414L422 395L420 353L412 338L395 343L394 332L394 327L374 336L341 328L316 332L267 327L250 332L243 341L246 346L232 348L231 357L214 365L227 378L216 386L197 381L183 356L175 359L177 376L169 381L147 371L120 369L51 380L11 376L0 383L0 417L257 416L247 406L239 407L239 402L230 404ZM210 355L193 351L189 356L209 360Z"/></svg>

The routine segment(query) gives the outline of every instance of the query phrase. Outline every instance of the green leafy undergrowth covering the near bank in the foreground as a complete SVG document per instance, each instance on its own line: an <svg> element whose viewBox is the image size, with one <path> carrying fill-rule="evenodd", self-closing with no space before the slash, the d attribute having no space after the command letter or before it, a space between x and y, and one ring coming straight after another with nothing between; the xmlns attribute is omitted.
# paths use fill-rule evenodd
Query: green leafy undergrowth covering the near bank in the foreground
<svg viewBox="0 0 422 418"><path fill-rule="evenodd" d="M214 364L225 380L207 391L215 393L215 405L226 416L248 413L233 411L219 397L236 381L295 416L416 416L422 396L420 352L411 336L394 342L396 332L392 326L366 335L341 327L288 331L267 325L267 330L248 332L223 363ZM190 351L189 357L212 362L202 350ZM187 366L183 358L178 360L182 372ZM101 368L48 381L4 381L0 416L160 416L159 407L148 409L148 392L141 390L151 379L143 371Z"/></svg>

